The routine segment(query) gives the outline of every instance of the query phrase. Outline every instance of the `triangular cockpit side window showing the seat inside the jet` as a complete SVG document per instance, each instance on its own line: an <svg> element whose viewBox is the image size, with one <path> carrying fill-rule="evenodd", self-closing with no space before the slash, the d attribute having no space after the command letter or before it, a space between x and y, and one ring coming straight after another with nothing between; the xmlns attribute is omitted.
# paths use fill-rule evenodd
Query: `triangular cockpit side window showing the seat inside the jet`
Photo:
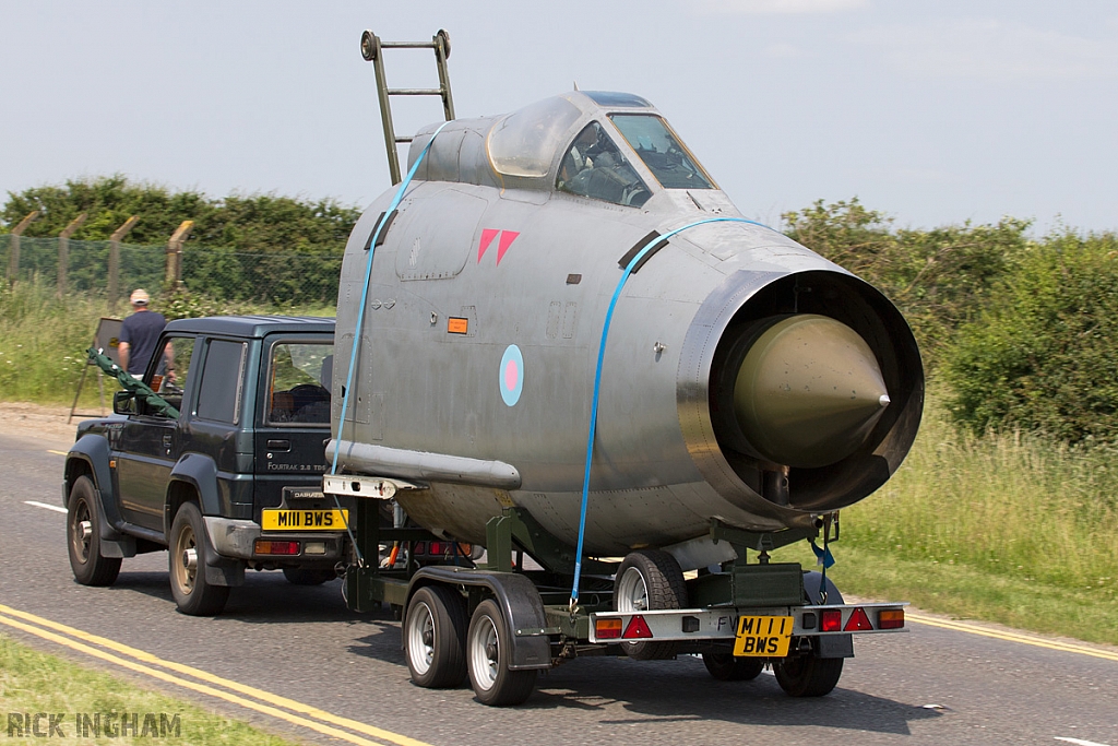
<svg viewBox="0 0 1118 746"><path fill-rule="evenodd" d="M556 188L632 207L641 207L650 196L644 181L597 122L587 124L567 149Z"/></svg>

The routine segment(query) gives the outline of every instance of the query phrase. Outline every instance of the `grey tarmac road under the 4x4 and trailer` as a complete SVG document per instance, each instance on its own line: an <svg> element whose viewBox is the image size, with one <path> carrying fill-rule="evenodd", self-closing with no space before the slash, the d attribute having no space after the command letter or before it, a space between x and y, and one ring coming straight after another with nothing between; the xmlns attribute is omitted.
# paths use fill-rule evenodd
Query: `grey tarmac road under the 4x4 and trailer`
<svg viewBox="0 0 1118 746"><path fill-rule="evenodd" d="M77 585L65 516L49 509L64 462L51 451L67 447L0 433L0 633L305 743L1118 746L1118 651L928 615L907 634L858 638L821 699L786 697L768 673L718 682L694 658L577 660L514 709L484 707L468 687L419 689L399 625L348 612L338 582L252 573L217 618L174 611L165 553L124 560L113 587Z"/></svg>

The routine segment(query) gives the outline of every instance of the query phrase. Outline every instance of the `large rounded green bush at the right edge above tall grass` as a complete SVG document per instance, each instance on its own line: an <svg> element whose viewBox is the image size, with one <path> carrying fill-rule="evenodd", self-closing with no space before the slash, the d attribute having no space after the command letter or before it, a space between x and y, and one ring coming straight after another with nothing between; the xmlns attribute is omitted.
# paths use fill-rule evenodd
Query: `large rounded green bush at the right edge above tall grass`
<svg viewBox="0 0 1118 746"><path fill-rule="evenodd" d="M1118 238L1064 232L1017 255L945 374L951 413L975 433L1118 440Z"/></svg>

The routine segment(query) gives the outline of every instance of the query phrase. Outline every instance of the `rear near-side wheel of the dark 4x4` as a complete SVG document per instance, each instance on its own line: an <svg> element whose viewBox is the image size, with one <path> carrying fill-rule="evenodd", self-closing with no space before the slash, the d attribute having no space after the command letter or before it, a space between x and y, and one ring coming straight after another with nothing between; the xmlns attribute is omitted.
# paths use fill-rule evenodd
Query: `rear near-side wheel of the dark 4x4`
<svg viewBox="0 0 1118 746"><path fill-rule="evenodd" d="M171 595L183 614L214 616L225 608L229 588L206 582L206 526L198 506L184 502L174 514L170 537Z"/></svg>

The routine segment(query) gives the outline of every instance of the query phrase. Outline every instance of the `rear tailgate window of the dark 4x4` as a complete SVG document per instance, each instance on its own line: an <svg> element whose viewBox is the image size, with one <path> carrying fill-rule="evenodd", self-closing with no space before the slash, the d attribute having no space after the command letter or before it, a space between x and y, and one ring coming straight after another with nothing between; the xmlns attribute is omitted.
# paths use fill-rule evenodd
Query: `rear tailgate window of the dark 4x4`
<svg viewBox="0 0 1118 746"><path fill-rule="evenodd" d="M267 416L273 425L330 424L334 346L276 342L268 363Z"/></svg>

